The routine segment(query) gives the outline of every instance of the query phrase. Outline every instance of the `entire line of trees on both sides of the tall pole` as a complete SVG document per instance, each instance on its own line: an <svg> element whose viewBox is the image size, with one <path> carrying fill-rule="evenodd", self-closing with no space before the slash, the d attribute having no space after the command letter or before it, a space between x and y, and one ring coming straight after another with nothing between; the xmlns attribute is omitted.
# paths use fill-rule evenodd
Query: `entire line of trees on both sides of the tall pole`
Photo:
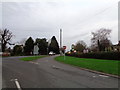
<svg viewBox="0 0 120 90"><path fill-rule="evenodd" d="M92 32L92 38L91 38L91 47L89 48L90 51L105 51L106 47L109 47L112 45L112 42L110 41L110 29L101 28L96 32ZM2 44L2 52L5 51L7 44L11 44L11 38L14 35L12 32L10 32L8 29L0 30L0 41ZM39 47L39 54L47 54L50 51L53 51L54 53L59 53L59 45L58 42L53 36L51 38L51 43L49 44L47 42L46 38L37 38L35 41L32 39L32 37L29 37L23 45L15 45L13 48L14 54L32 54L34 45L38 45ZM49 46L48 46L49 44ZM79 52L83 52L84 49L88 49L86 43L84 41L78 41L74 45L74 49ZM71 50L72 51L72 50Z"/></svg>

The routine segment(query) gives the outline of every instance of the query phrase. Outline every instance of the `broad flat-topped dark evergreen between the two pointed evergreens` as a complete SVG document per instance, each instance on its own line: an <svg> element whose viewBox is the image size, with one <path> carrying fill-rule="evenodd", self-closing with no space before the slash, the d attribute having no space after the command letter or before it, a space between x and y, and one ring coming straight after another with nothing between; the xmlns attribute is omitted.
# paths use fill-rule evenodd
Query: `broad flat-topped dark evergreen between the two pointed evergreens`
<svg viewBox="0 0 120 90"><path fill-rule="evenodd" d="M47 44L48 43L46 41L46 38L43 38L43 39L37 38L35 43L38 44L39 54L42 54L42 55L47 54Z"/></svg>

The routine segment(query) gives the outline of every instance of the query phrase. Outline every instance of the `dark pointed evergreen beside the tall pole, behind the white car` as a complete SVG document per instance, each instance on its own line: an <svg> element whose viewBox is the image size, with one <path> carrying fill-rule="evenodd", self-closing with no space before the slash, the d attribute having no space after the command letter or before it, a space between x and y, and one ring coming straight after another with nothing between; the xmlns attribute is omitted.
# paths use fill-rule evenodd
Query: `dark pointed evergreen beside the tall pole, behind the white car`
<svg viewBox="0 0 120 90"><path fill-rule="evenodd" d="M49 45L49 52L50 52L50 51L53 51L53 52L56 53L56 54L59 54L59 53L60 53L60 52L59 52L59 45L58 45L58 42L57 42L55 36L53 36L53 37L51 38L51 43L50 43L50 45Z"/></svg>

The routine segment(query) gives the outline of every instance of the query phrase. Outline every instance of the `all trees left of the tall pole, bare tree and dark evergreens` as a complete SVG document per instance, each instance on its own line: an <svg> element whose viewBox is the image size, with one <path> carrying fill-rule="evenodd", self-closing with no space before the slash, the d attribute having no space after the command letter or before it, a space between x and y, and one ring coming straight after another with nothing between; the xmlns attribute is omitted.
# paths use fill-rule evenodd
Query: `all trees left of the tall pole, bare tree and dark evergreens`
<svg viewBox="0 0 120 90"><path fill-rule="evenodd" d="M12 34L12 32L10 32L8 29L0 30L2 52L5 52L5 50L7 49L7 44L15 45L10 43L13 36L14 35ZM13 55L30 55L33 54L34 45L38 45L39 54L48 54L50 51L59 54L59 45L56 37L53 36L50 41L51 42L48 45L48 41L46 38L37 38L34 41L32 37L29 37L27 40L24 41L24 43L22 42L22 44L19 43L18 45L15 45L12 51L9 48L9 51L11 51Z"/></svg>

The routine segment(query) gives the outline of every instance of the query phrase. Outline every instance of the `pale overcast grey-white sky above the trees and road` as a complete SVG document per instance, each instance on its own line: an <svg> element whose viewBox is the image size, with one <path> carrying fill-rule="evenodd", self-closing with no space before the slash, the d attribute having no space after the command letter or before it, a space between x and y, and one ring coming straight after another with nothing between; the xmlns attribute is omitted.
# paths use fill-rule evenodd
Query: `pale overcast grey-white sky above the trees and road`
<svg viewBox="0 0 120 90"><path fill-rule="evenodd" d="M28 37L55 36L71 48L79 40L91 45L91 32L111 29L111 41L118 43L119 0L8 0L0 3L0 29L7 28L15 36L13 43ZM120 40L120 39L119 39Z"/></svg>

